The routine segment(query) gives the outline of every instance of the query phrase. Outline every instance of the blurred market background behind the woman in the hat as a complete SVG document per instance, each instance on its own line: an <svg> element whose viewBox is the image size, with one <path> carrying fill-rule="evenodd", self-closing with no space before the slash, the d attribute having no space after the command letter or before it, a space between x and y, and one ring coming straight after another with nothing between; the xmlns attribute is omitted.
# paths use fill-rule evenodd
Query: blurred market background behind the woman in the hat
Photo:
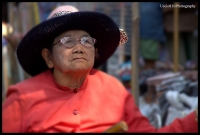
<svg viewBox="0 0 200 135"><path fill-rule="evenodd" d="M18 43L65 4L105 13L126 31L128 42L99 69L124 84L153 126L198 106L197 2L3 2L2 102L10 85L30 77L16 58Z"/></svg>

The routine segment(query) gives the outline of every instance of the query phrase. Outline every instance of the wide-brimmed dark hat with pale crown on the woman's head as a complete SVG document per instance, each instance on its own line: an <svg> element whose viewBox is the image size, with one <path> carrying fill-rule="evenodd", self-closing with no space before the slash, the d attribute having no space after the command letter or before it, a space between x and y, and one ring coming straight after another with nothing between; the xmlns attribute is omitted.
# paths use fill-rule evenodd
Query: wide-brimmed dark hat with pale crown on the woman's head
<svg viewBox="0 0 200 135"><path fill-rule="evenodd" d="M56 11L56 13L55 13ZM94 68L102 65L116 50L118 45L127 41L127 35L107 15L93 11L73 11L57 7L50 18L33 27L21 40L17 47L17 57L22 68L31 76L48 69L42 49L52 45L55 37L68 30L84 30L95 38L99 59Z"/></svg>

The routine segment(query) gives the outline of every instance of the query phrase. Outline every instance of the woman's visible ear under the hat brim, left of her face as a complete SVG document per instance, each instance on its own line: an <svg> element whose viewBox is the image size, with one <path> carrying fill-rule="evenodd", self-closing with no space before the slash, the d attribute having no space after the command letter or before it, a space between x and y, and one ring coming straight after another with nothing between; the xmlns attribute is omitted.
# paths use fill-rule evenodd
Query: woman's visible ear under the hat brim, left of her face
<svg viewBox="0 0 200 135"><path fill-rule="evenodd" d="M42 49L42 57L49 68L53 68L51 53L47 48Z"/></svg>

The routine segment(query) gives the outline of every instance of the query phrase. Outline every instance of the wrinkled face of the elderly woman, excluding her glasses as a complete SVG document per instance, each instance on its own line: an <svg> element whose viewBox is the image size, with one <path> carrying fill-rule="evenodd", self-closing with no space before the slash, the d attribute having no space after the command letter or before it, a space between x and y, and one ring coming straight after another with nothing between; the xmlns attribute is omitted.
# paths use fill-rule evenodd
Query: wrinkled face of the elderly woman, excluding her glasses
<svg viewBox="0 0 200 135"><path fill-rule="evenodd" d="M63 37L81 39L82 37L90 37L90 35L83 30L70 30L56 37L54 43ZM60 70L61 72L88 71L94 65L95 49L94 47L87 48L78 41L72 48L66 48L58 42L53 46L51 57L54 70Z"/></svg>

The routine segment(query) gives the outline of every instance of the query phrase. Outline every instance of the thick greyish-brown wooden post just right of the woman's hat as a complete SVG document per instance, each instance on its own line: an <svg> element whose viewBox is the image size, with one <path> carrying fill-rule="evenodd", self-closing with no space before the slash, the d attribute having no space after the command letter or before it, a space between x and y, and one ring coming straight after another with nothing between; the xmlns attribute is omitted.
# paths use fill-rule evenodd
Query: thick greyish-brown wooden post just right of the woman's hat
<svg viewBox="0 0 200 135"><path fill-rule="evenodd" d="M139 106L139 84L138 84L138 44L139 44L139 2L132 3L132 45L131 45L131 94L135 103Z"/></svg>

